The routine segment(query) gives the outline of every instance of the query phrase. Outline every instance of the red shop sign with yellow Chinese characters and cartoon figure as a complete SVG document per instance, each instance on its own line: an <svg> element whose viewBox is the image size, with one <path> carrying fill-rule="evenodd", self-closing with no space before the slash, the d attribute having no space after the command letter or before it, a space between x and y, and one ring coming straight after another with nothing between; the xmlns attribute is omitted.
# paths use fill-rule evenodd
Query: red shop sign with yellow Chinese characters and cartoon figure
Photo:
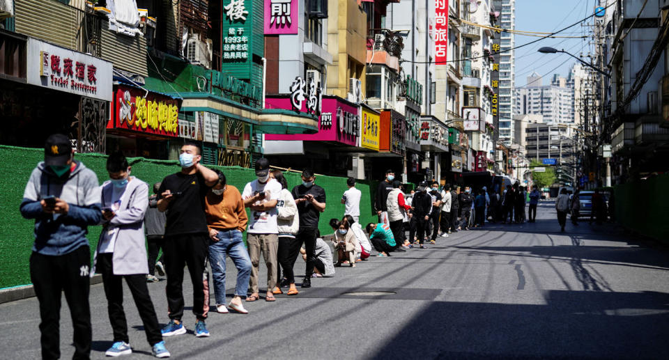
<svg viewBox="0 0 669 360"><path fill-rule="evenodd" d="M107 128L179 135L178 100L128 86L116 87L114 94L114 115Z"/></svg>

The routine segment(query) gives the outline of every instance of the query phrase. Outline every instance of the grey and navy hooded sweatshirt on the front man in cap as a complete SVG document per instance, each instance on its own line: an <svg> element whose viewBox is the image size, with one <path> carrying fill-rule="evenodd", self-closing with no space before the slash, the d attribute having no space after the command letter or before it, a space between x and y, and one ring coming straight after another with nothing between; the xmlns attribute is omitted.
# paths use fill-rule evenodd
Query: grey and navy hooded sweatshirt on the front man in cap
<svg viewBox="0 0 669 360"><path fill-rule="evenodd" d="M58 256L88 245L88 226L102 219L98 177L81 162L74 160L73 164L74 169L63 178L44 162L30 175L20 210L25 219L35 219L33 251L37 253ZM66 201L68 213L45 214L40 201L49 195Z"/></svg>

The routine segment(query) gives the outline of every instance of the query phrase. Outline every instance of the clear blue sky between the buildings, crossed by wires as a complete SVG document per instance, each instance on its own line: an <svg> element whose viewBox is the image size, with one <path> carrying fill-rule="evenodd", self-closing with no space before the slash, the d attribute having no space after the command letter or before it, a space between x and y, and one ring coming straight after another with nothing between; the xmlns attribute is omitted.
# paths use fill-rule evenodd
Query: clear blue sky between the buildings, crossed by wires
<svg viewBox="0 0 669 360"><path fill-rule="evenodd" d="M516 30L552 33L591 15L596 0L516 0ZM599 3L599 1L597 1ZM592 20L589 19L588 23ZM556 36L582 36L587 28L580 24L572 26ZM516 35L516 47L535 37ZM527 84L527 77L536 71L544 76L544 84L549 84L553 74L563 77L576 60L567 54L541 54L539 47L550 46L579 56L587 55L587 39L546 38L532 45L516 49L516 87Z"/></svg>

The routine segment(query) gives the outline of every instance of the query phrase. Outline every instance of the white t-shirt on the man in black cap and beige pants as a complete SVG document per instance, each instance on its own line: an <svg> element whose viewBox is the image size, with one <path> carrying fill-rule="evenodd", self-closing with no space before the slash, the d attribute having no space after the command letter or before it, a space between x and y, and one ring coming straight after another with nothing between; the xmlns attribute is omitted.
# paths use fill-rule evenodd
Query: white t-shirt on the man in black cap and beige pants
<svg viewBox="0 0 669 360"><path fill-rule="evenodd" d="M258 180L248 182L242 192L242 198L250 198L256 191L265 191L265 198L258 203L266 203L267 201L278 200L281 193L281 184L277 180L270 179L268 182L261 184ZM251 210L251 217L249 219L249 234L278 234L279 226L277 226L277 208L274 207L268 212L257 212Z"/></svg>

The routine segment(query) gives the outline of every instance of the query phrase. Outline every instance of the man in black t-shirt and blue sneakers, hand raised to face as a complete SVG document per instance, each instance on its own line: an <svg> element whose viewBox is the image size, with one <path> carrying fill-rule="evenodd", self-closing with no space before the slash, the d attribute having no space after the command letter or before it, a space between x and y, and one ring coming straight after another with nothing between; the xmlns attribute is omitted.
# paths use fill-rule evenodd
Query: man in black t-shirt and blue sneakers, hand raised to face
<svg viewBox="0 0 669 360"><path fill-rule="evenodd" d="M207 337L205 320L209 312L209 230L204 213L209 189L218 182L218 175L200 164L201 149L187 142L181 147L181 171L160 182L158 210L167 212L163 251L167 269L167 307L169 323L161 329L162 336L186 334L183 317L183 267L188 265L193 285L195 336Z"/></svg>

